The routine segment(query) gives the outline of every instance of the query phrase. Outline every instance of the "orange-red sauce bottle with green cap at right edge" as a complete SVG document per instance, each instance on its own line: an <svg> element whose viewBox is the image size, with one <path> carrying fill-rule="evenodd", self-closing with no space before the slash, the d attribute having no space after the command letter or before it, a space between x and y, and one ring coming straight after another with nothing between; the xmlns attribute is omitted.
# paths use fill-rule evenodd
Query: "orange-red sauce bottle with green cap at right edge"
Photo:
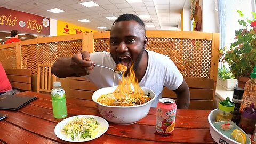
<svg viewBox="0 0 256 144"><path fill-rule="evenodd" d="M251 103L256 103L256 66L253 68L253 72L244 86L243 102L241 103L240 112L248 107Z"/></svg>

